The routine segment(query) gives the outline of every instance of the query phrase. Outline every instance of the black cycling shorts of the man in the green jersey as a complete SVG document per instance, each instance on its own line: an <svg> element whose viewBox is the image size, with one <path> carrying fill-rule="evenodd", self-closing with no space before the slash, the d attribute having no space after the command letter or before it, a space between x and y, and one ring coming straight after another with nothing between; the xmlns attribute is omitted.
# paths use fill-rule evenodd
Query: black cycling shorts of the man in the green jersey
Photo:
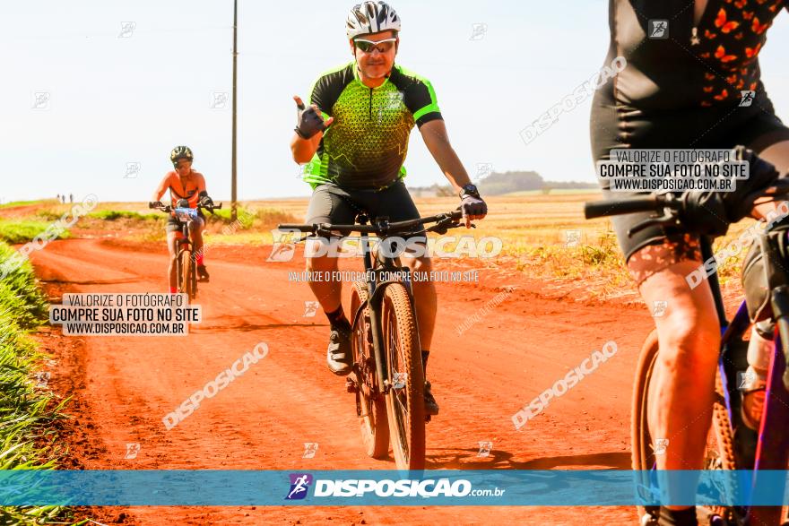
<svg viewBox="0 0 789 526"><path fill-rule="evenodd" d="M419 219L420 213L402 180L397 180L383 190L347 189L334 183L316 187L309 198L308 223L334 223L352 225L356 214L367 212L370 220L388 217L390 222ZM426 241L425 229L414 231L415 236Z"/></svg>

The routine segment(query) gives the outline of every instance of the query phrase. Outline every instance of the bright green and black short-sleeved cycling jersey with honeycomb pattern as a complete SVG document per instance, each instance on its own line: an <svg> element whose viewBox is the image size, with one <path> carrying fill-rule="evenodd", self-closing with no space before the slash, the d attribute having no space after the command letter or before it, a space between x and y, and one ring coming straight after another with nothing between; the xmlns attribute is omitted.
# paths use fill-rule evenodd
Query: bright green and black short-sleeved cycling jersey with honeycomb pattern
<svg viewBox="0 0 789 526"><path fill-rule="evenodd" d="M399 65L377 88L365 86L356 64L323 73L310 90L334 122L304 168L313 188L333 182L345 188L384 188L405 177L403 161L413 125L440 119L430 82Z"/></svg>

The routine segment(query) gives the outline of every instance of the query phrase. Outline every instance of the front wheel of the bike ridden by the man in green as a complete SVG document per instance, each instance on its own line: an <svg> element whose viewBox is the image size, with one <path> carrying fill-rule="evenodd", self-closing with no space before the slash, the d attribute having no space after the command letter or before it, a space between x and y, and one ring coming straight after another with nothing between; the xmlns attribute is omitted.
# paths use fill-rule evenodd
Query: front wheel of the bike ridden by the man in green
<svg viewBox="0 0 789 526"><path fill-rule="evenodd" d="M386 414L399 470L425 467L425 376L408 292L401 283L386 285L381 308L386 353Z"/></svg>

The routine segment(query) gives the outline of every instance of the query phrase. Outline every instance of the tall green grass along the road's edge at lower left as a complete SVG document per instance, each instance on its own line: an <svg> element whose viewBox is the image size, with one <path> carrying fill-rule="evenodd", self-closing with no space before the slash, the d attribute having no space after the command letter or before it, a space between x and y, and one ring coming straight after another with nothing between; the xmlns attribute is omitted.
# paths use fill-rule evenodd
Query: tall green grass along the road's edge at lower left
<svg viewBox="0 0 789 526"><path fill-rule="evenodd" d="M13 248L0 243L0 261ZM58 455L53 427L65 402L37 387L36 365L43 358L28 332L47 320L46 298L39 291L30 263L6 272L0 279L0 469L49 470ZM60 506L4 506L2 524L64 523Z"/></svg>

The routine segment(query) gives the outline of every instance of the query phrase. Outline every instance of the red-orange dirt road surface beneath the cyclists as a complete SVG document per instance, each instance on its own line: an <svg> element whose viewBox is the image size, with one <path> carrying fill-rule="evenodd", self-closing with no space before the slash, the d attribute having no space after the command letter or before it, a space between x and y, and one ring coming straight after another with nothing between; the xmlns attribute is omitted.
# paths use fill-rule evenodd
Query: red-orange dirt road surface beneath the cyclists
<svg viewBox="0 0 789 526"><path fill-rule="evenodd" d="M212 249L211 283L197 301L203 323L185 338L64 337L40 341L53 355L51 385L71 395L69 469L381 470L360 444L353 396L325 366L328 325L290 262L270 247ZM163 245L100 239L56 241L32 254L54 304L64 292L166 290ZM342 260L358 270L360 262ZM429 379L441 414L428 426L429 469L629 469L629 399L637 352L652 320L643 306L590 300L521 272L438 260L437 270L479 268L476 283L438 283L439 319ZM515 287L463 335L457 326ZM348 287L344 290L345 300ZM497 302L498 303L498 302ZM347 308L347 303L346 303ZM516 430L512 415L606 341L617 354L541 415ZM264 341L269 354L167 430L162 418ZM479 442L490 441L490 456ZM304 443L318 444L304 459ZM126 444L138 443L134 460ZM635 524L630 507L131 507L79 509L124 524Z"/></svg>

